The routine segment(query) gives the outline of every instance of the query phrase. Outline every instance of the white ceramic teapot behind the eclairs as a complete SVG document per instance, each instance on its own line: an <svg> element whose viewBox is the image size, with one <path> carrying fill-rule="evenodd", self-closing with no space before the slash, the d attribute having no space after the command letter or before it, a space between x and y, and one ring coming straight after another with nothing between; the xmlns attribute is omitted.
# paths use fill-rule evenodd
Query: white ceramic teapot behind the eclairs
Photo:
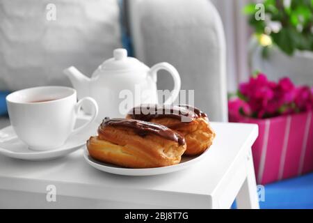
<svg viewBox="0 0 313 223"><path fill-rule="evenodd" d="M91 78L71 66L64 70L70 78L78 98L90 96L97 101L97 122L106 116L125 117L131 107L140 104L158 104L157 72L168 70L174 79L174 89L164 104L172 104L179 94L181 80L177 70L169 63L157 63L152 68L133 57L126 49L115 49L113 58L100 65ZM88 105L83 109L90 112Z"/></svg>

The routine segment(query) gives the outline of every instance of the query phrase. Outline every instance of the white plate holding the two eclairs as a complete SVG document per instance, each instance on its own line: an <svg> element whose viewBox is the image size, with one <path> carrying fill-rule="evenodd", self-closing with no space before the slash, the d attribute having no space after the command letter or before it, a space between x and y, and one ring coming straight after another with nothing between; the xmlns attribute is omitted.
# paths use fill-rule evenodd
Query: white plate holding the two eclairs
<svg viewBox="0 0 313 223"><path fill-rule="evenodd" d="M198 163L205 157L208 153L209 149L202 153L201 155L196 155L193 157L182 157L182 161L179 164L168 166L168 167L155 167L155 168L144 168L144 169L134 169L134 168L126 168L126 167L119 167L114 164L109 164L106 162L101 162L98 160L93 159L88 153L87 147L83 148L83 157L91 166L95 167L95 169L99 169L101 171L111 173L111 174L118 174L118 175L125 175L125 176L152 176L152 175L159 175L159 174L168 174L175 171L179 171L182 169L186 169L187 167L191 167L194 164Z"/></svg>

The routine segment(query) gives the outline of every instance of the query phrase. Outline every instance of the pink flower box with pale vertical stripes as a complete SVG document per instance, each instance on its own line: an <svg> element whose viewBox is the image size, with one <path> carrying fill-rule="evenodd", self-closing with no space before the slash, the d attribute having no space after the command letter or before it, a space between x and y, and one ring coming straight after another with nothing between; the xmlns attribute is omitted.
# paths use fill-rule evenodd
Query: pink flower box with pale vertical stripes
<svg viewBox="0 0 313 223"><path fill-rule="evenodd" d="M258 184L313 171L312 111L266 119L230 114L230 121L259 125L259 137L252 146Z"/></svg>

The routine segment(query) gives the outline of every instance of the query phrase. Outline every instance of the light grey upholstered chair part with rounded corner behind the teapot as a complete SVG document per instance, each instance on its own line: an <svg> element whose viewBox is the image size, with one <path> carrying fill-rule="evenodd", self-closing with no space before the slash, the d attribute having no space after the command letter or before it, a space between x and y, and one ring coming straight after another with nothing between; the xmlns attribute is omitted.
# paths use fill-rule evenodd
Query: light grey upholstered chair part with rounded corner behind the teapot
<svg viewBox="0 0 313 223"><path fill-rule="evenodd" d="M225 36L208 0L127 1L135 56L152 66L166 61L177 68L182 89L195 90L195 105L212 121L227 121ZM172 89L159 74L159 89Z"/></svg>

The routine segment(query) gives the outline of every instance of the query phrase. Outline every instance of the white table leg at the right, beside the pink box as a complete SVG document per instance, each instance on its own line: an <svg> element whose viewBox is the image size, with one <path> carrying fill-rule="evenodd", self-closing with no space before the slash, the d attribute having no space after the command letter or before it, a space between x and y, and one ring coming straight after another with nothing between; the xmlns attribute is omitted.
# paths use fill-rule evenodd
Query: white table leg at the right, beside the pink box
<svg viewBox="0 0 313 223"><path fill-rule="evenodd" d="M247 155L247 177L236 197L238 209L259 209L257 196L257 183L255 182L255 168L253 167L252 153L249 149Z"/></svg>

